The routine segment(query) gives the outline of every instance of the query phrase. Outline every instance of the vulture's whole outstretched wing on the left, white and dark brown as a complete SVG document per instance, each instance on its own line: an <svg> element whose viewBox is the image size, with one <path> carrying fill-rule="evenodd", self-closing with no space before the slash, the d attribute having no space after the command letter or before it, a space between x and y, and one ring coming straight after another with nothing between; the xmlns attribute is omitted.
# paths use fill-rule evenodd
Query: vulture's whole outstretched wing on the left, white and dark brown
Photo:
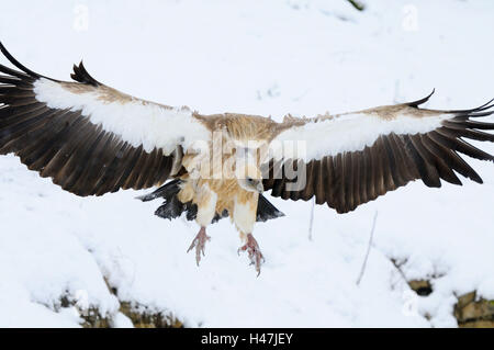
<svg viewBox="0 0 494 350"><path fill-rule="evenodd" d="M94 80L82 63L64 82L22 66L0 65L0 155L78 195L162 183L181 168L182 153L210 132L187 108L121 93Z"/></svg>

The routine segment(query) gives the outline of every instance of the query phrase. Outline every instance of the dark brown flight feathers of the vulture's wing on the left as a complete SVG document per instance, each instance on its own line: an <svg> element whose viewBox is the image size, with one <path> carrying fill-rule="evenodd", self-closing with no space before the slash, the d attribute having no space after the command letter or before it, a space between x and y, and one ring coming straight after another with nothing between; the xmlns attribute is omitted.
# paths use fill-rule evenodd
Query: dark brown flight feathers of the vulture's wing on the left
<svg viewBox="0 0 494 350"><path fill-rule="evenodd" d="M170 177L173 157L180 153L164 156L156 148L146 153L80 112L49 109L33 91L42 76L22 66L1 44L0 49L22 70L0 65L0 155L14 153L29 169L81 196L150 188ZM75 66L72 78L100 84L82 64Z"/></svg>

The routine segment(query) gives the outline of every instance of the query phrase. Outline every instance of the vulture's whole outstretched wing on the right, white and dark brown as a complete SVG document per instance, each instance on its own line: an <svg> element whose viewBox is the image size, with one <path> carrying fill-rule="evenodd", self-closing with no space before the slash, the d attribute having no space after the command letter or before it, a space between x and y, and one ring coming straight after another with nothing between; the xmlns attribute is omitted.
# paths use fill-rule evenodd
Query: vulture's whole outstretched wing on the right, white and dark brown
<svg viewBox="0 0 494 350"><path fill-rule="evenodd" d="M492 101L472 110L434 111L418 105L430 98L355 113L289 118L271 144L265 190L283 200L327 203L338 213L353 211L409 181L439 188L441 179L461 184L454 172L481 183L459 156L494 160L463 138L494 142ZM283 144L302 142L297 154ZM290 169L290 171L288 171ZM304 179L306 181L303 181ZM302 188L300 187L302 184Z"/></svg>

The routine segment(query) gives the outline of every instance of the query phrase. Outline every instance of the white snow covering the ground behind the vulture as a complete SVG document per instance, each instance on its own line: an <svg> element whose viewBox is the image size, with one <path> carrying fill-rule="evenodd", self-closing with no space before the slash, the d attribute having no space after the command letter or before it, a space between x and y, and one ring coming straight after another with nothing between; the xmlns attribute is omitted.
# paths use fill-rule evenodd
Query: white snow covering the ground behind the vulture
<svg viewBox="0 0 494 350"><path fill-rule="evenodd" d="M68 77L85 58L99 81L202 113L313 116L433 88L431 109L492 98L492 1L366 2L360 13L323 0L11 1L0 33L41 74ZM79 326L66 296L115 327L130 326L119 301L189 327L456 327L456 295L494 298L494 167L469 162L484 184L412 183L345 215L317 206L313 240L310 202L270 199L287 216L256 225L266 257L256 278L227 221L209 229L197 268L186 250L198 227L154 216L159 202L134 199L146 191L81 199L1 157L0 326ZM417 296L404 276L431 279L434 292Z"/></svg>

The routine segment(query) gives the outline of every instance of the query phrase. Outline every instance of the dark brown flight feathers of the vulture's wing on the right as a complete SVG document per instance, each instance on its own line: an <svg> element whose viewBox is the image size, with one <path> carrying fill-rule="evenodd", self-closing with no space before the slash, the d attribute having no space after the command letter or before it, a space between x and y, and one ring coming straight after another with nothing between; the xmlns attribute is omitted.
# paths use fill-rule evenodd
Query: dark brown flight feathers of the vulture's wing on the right
<svg viewBox="0 0 494 350"><path fill-rule="evenodd" d="M417 108L428 98L411 102ZM492 101L472 110L445 111L454 117L442 127L427 134L381 136L371 147L361 151L344 153L299 166L306 167L306 187L296 192L287 190L287 162L270 162L263 180L265 190L282 199L307 201L315 196L317 204L327 203L338 213L353 211L360 204L375 200L411 181L420 179L427 187L439 188L441 180L461 185L456 172L475 182L481 177L459 154L480 160L494 157L470 145L463 138L494 142L494 135L482 131L494 129L494 123L472 118L494 113ZM292 161L292 160L290 160ZM276 177L274 173L281 173Z"/></svg>

